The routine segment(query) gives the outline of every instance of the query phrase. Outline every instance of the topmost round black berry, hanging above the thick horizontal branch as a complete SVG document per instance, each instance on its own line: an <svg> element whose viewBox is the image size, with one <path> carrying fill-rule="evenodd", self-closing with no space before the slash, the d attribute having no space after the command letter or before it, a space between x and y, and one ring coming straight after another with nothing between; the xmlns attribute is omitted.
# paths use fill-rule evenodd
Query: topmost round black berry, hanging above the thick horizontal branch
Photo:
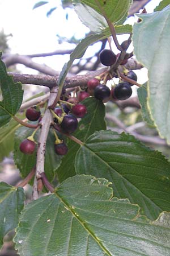
<svg viewBox="0 0 170 256"><path fill-rule="evenodd" d="M99 54L100 62L105 66L111 66L116 62L116 55L110 49L103 49Z"/></svg>

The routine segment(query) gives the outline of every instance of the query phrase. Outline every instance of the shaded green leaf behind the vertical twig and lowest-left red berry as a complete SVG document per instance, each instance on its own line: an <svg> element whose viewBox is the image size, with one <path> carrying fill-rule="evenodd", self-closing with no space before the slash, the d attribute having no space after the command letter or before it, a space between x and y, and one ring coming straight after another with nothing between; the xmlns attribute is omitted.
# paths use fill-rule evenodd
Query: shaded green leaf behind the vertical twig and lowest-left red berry
<svg viewBox="0 0 170 256"><path fill-rule="evenodd" d="M32 168L36 164L36 151L32 155L25 155L19 150L20 143L27 137L31 136L33 130L27 127L20 127L16 130L14 138L14 160L16 166L20 170L22 177L26 177ZM35 135L35 141L38 140L39 130ZM61 163L62 156L59 156L54 151L54 134L52 131L49 131L48 138L46 141L46 150L45 150L45 174L48 177L50 182L54 179L54 172Z"/></svg>

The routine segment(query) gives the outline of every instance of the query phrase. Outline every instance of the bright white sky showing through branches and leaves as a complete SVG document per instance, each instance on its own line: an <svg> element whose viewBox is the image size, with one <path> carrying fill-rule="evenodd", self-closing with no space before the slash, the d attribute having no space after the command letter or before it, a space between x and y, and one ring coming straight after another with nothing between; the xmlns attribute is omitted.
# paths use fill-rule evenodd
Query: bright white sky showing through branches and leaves
<svg viewBox="0 0 170 256"><path fill-rule="evenodd" d="M12 34L8 40L11 53L31 54L41 52L52 52L56 49L74 48L68 43L58 44L56 34L71 38L83 38L89 30L84 26L78 16L71 9L63 10L60 0L50 0L47 5L35 10L33 6L39 0L0 0L0 30L3 28L5 34ZM147 12L151 13L160 0L152 0L147 5ZM57 5L57 10L49 18L46 17L47 11ZM66 19L68 15L68 20ZM129 22L133 22L133 18ZM125 38L120 38L121 41ZM99 48L95 46L95 48ZM114 47L113 47L114 48ZM113 49L114 50L114 49ZM86 57L90 56L93 47L90 47ZM37 62L45 62L50 67L58 70L69 60L69 55L52 56L34 59ZM24 72L24 68L20 65ZM25 73L35 73L32 69Z"/></svg>

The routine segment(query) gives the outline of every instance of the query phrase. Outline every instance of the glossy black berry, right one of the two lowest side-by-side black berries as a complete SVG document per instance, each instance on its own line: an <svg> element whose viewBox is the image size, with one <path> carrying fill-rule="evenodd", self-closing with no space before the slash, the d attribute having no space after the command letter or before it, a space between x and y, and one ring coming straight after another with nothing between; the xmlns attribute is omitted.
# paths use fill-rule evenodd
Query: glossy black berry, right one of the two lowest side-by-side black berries
<svg viewBox="0 0 170 256"><path fill-rule="evenodd" d="M126 100L131 96L132 90L129 82L120 82L120 84L116 85L114 88L114 97L117 100Z"/></svg>

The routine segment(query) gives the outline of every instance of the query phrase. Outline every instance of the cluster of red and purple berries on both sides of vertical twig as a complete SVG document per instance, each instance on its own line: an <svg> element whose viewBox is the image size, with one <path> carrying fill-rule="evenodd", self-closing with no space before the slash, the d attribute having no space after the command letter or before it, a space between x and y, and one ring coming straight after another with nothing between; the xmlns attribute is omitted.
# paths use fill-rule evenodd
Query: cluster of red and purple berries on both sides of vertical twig
<svg viewBox="0 0 170 256"><path fill-rule="evenodd" d="M56 108L52 111L54 115L54 129L57 131L61 131L64 134L73 133L78 127L78 119L83 118L87 113L86 106L83 104L79 104L80 101L84 100L84 98L89 97L90 94L87 92L79 92L78 97L71 97L70 94L66 93L66 90L62 91L62 95L57 104ZM37 106L31 106L25 112L25 115L29 121L38 121L41 125L41 111ZM31 155L36 150L36 142L33 138L33 135L36 133L36 130L33 131L33 134L24 139L22 143L20 143L20 151L23 154ZM56 137L56 141L54 142L54 151L58 155L65 155L68 151L66 143L58 138L56 131L54 130L54 135Z"/></svg>

